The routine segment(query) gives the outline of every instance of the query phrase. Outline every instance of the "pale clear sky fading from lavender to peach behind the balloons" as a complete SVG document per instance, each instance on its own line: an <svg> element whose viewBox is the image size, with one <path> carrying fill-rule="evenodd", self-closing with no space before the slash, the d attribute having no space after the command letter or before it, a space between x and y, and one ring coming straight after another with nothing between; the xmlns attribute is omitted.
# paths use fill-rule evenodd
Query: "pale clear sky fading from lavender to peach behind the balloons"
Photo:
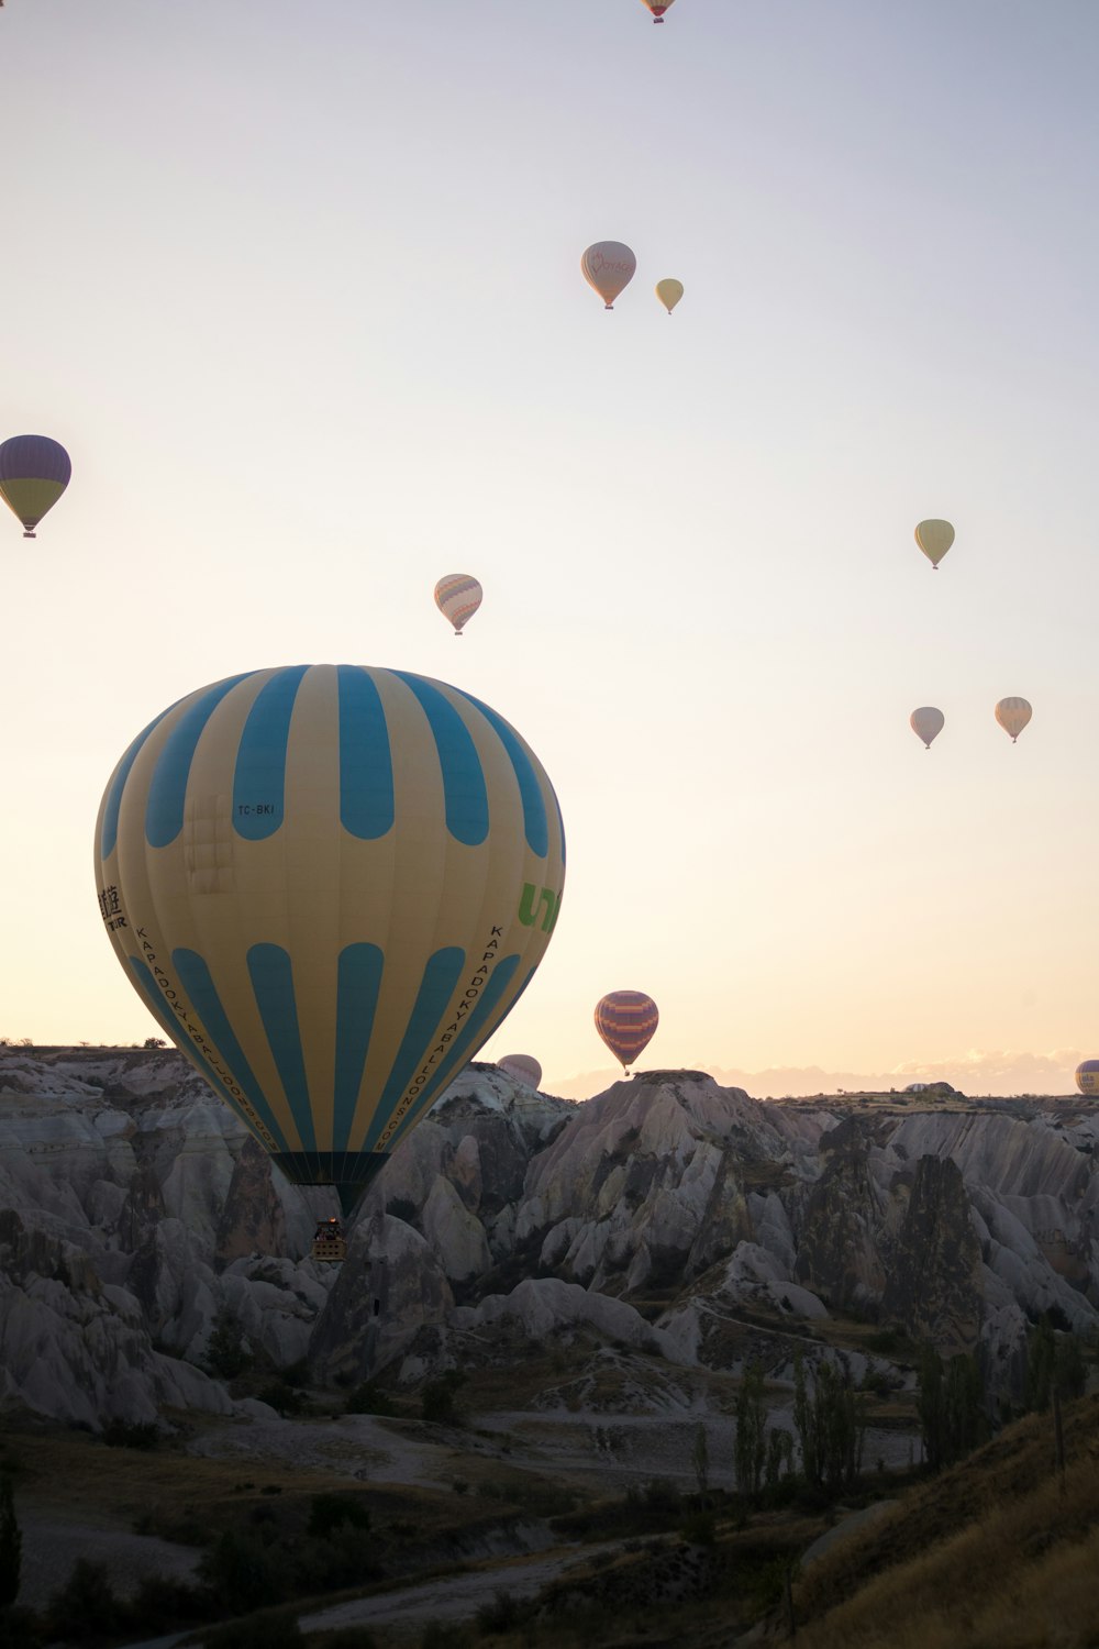
<svg viewBox="0 0 1099 1649"><path fill-rule="evenodd" d="M328 660L476 693L557 788L481 1057L608 1067L618 988L661 1067L1099 1054L1097 78L1094 0L8 0L0 439L72 483L0 521L0 1034L157 1029L110 770Z"/></svg>

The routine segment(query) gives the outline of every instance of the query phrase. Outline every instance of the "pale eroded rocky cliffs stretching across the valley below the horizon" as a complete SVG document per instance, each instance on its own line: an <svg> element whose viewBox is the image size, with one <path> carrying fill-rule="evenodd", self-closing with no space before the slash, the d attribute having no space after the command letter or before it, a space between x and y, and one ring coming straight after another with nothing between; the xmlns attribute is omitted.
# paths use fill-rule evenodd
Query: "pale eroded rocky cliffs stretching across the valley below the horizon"
<svg viewBox="0 0 1099 1649"><path fill-rule="evenodd" d="M325 1266L334 1194L272 1174L180 1055L0 1049L0 1405L227 1412L219 1313L341 1382L577 1336L779 1370L842 1313L1008 1384L1028 1319L1099 1322L1097 1139L1083 1106L842 1115L702 1072L577 1105L473 1065Z"/></svg>

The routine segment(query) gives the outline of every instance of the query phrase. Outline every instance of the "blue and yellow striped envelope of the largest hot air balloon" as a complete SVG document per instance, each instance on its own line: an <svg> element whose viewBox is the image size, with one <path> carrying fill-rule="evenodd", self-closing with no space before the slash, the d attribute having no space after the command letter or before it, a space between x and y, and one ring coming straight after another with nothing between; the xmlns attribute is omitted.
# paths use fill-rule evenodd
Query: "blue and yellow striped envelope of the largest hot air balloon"
<svg viewBox="0 0 1099 1649"><path fill-rule="evenodd" d="M344 1212L550 942L565 844L458 688L302 665L199 688L119 762L99 905L130 983L295 1184Z"/></svg>

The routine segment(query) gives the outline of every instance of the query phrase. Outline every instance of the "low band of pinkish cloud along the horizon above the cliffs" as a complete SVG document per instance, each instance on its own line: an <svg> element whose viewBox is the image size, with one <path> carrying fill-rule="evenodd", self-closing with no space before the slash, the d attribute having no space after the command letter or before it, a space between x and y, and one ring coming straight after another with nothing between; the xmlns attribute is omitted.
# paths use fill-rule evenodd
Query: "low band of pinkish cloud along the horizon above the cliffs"
<svg viewBox="0 0 1099 1649"><path fill-rule="evenodd" d="M1027 1054L1015 1049L995 1052L970 1049L954 1059L933 1064L905 1060L885 1072L824 1070L821 1065L769 1067L737 1070L728 1065L699 1062L689 1069L707 1070L725 1088L745 1088L753 1098L809 1098L814 1093L852 1093L905 1088L910 1082L949 1082L974 1097L1013 1093L1074 1093L1076 1067L1084 1055L1079 1049L1055 1049L1051 1054ZM661 1067L654 1067L661 1069ZM544 1082L545 1093L567 1100L587 1100L620 1078L616 1070L590 1070L575 1077Z"/></svg>

